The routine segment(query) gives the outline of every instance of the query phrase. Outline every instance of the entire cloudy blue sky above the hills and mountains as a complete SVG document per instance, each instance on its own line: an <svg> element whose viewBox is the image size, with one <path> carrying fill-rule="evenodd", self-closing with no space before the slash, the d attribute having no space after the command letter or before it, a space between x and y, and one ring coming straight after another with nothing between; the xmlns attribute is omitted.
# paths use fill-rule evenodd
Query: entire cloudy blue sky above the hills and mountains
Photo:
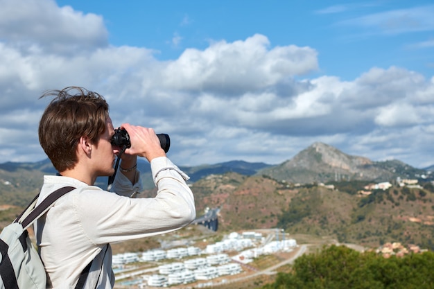
<svg viewBox="0 0 434 289"><path fill-rule="evenodd" d="M320 141L434 165L432 1L0 0L0 163L40 161L49 89L171 137L179 166Z"/></svg>

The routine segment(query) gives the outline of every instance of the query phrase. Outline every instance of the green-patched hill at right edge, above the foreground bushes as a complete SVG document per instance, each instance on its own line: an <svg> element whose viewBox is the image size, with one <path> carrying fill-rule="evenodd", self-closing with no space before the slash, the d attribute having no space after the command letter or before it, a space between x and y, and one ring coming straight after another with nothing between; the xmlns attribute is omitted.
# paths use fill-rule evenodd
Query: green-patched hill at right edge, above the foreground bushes
<svg viewBox="0 0 434 289"><path fill-rule="evenodd" d="M338 186L351 183L356 182ZM279 214L277 227L365 247L400 242L434 249L433 203L434 194L420 188L395 186L361 196L316 186L298 191Z"/></svg>

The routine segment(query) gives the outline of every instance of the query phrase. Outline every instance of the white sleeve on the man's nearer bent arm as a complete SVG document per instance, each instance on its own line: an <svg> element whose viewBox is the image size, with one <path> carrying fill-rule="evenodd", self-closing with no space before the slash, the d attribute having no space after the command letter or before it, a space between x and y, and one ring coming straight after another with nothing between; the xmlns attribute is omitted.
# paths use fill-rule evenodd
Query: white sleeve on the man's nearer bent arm
<svg viewBox="0 0 434 289"><path fill-rule="evenodd" d="M193 193L185 182L188 177L167 157L153 159L151 169L157 185L154 198L131 199L105 191L76 195L76 216L92 243L164 234L196 218Z"/></svg>

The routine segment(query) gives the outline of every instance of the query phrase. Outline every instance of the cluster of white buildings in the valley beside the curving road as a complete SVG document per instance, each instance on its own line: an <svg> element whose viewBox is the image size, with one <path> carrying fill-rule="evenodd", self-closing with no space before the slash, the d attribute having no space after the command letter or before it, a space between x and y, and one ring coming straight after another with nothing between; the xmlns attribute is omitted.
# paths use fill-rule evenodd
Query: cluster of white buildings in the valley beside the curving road
<svg viewBox="0 0 434 289"><path fill-rule="evenodd" d="M232 232L205 249L187 246L128 252L115 254L112 262L119 286L166 287L202 281L202 285L195 285L199 288L209 286L213 279L240 274L243 266L261 255L291 252L296 247L296 240L286 239L280 229L268 236L255 231ZM148 268L143 266L145 263L155 266Z"/></svg>

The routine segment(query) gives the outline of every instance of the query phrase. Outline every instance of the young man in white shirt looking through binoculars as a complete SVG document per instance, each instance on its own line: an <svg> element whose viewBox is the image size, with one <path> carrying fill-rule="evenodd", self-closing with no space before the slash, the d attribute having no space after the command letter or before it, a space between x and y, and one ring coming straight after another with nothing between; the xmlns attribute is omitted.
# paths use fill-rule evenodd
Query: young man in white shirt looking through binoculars
<svg viewBox="0 0 434 289"><path fill-rule="evenodd" d="M47 288L75 288L92 262L84 288L113 288L110 243L164 234L196 218L188 177L167 157L153 129L124 123L131 147L121 156L111 192L94 186L96 177L114 174L120 148L103 96L81 87L49 91L39 138L59 175L44 176L38 203L63 186L62 196L35 225ZM150 162L155 198L130 198L141 190L137 156ZM101 266L102 264L102 266ZM101 270L100 270L101 269Z"/></svg>

